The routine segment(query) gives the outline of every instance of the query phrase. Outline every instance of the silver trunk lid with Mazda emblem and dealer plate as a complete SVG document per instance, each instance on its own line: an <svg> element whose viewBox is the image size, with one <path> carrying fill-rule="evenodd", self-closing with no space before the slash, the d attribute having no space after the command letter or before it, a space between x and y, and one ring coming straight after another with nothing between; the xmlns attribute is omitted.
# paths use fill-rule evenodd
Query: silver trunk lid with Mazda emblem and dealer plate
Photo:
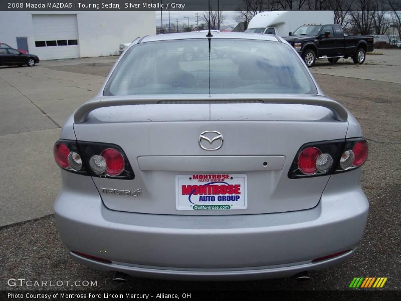
<svg viewBox="0 0 401 301"><path fill-rule="evenodd" d="M135 173L133 180L93 177L107 208L151 214L223 215L316 206L329 177L289 179L288 171L301 145L344 138L347 126L346 121L334 119L330 109L316 105L161 102L96 108L85 122L75 123L74 130L78 140L121 146ZM199 138L205 131L214 131L205 134L209 138L220 133L223 141L218 138L210 143ZM199 139L207 148L222 145L206 150ZM235 197L235 189L240 189L246 205L237 206L238 210L192 210L199 203L191 200L211 196L212 191L197 194L192 191L194 187L220 181L232 185L231 194L215 191L216 200L206 198L202 204L232 204L224 203L222 196ZM142 194L107 194L104 189L141 189Z"/></svg>

